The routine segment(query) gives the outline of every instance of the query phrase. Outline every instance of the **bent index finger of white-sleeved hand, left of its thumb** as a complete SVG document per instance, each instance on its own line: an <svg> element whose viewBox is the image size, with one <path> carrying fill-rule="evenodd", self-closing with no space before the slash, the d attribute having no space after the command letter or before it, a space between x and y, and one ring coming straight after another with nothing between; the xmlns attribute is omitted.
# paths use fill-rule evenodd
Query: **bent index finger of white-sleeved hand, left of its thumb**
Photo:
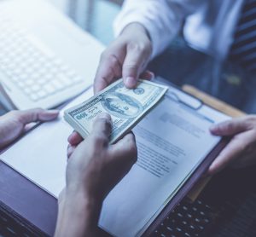
<svg viewBox="0 0 256 237"><path fill-rule="evenodd" d="M122 66L116 55L103 54L94 79L94 93L97 93L109 84L113 83L115 78L122 75Z"/></svg>

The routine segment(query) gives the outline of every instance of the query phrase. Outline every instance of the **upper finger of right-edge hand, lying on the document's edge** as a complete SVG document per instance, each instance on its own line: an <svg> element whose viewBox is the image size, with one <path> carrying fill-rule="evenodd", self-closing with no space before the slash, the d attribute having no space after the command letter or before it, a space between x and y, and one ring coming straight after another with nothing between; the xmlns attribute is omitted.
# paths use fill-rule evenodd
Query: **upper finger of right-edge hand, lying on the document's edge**
<svg viewBox="0 0 256 237"><path fill-rule="evenodd" d="M248 128L247 121L244 118L232 119L220 124L214 124L210 130L212 134L218 136L232 136L245 131Z"/></svg>

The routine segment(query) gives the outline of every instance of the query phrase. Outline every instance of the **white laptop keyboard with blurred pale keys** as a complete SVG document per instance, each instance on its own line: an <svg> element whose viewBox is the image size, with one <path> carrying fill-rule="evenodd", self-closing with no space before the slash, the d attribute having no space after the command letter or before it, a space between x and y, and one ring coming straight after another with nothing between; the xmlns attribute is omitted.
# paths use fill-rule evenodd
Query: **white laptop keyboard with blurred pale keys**
<svg viewBox="0 0 256 237"><path fill-rule="evenodd" d="M0 23L0 70L31 101L83 81L38 38L8 19Z"/></svg>

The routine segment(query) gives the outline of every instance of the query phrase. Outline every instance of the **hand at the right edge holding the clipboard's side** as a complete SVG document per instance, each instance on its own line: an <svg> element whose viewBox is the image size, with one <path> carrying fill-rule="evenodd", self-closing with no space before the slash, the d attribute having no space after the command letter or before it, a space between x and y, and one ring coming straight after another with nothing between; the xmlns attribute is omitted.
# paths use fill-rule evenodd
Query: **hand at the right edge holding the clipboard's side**
<svg viewBox="0 0 256 237"><path fill-rule="evenodd" d="M233 137L212 162L210 174L221 171L226 165L239 168L256 164L256 115L214 125L211 132L217 136Z"/></svg>

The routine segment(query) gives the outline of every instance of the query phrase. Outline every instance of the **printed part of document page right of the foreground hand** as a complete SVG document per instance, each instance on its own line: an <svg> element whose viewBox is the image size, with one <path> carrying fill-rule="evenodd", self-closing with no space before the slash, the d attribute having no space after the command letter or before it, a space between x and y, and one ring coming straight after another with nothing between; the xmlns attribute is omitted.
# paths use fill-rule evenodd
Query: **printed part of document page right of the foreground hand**
<svg viewBox="0 0 256 237"><path fill-rule="evenodd" d="M167 92L133 130L137 164L105 199L99 223L115 236L142 234L220 140L209 132L212 118L172 98Z"/></svg>

